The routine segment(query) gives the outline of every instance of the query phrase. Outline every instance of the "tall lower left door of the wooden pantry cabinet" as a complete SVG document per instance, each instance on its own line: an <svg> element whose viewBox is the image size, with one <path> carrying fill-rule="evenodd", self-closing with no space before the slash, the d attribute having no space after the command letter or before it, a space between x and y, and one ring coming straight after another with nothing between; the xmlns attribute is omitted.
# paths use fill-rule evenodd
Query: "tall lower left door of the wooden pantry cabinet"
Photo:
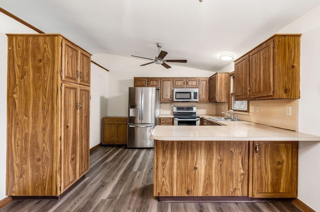
<svg viewBox="0 0 320 212"><path fill-rule="evenodd" d="M62 83L61 192L77 179L77 85Z"/></svg>

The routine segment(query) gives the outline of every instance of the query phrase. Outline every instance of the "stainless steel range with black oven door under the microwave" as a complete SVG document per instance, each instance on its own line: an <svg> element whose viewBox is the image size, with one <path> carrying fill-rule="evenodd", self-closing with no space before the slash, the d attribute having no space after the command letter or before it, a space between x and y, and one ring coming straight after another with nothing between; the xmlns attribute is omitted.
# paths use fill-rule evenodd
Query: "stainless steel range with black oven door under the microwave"
<svg viewBox="0 0 320 212"><path fill-rule="evenodd" d="M195 106L173 106L173 125L200 125Z"/></svg>

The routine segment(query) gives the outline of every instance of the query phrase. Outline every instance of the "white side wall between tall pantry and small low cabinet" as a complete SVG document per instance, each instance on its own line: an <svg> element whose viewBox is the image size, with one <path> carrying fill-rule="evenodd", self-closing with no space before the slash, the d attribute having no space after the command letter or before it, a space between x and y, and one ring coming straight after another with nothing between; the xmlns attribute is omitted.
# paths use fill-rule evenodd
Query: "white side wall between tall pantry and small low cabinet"
<svg viewBox="0 0 320 212"><path fill-rule="evenodd" d="M107 116L108 72L91 63L90 148L101 142L101 119Z"/></svg>

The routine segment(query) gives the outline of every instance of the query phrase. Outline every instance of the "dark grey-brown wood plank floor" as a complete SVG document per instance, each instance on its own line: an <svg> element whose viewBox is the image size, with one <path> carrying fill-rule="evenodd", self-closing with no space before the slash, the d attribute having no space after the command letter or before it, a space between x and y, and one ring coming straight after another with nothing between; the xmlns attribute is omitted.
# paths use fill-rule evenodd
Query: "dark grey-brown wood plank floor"
<svg viewBox="0 0 320 212"><path fill-rule="evenodd" d="M153 149L100 146L85 178L59 200L13 200L2 211L301 211L291 201L158 202L153 197Z"/></svg>

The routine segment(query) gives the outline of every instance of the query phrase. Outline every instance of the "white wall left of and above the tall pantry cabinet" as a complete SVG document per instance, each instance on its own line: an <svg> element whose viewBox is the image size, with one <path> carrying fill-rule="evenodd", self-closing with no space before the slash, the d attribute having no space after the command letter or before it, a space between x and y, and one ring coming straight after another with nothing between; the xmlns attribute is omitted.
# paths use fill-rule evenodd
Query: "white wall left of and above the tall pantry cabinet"
<svg viewBox="0 0 320 212"><path fill-rule="evenodd" d="M18 23L0 12L0 200L5 197L6 169L6 69L7 36L5 33L36 33L34 30Z"/></svg>

